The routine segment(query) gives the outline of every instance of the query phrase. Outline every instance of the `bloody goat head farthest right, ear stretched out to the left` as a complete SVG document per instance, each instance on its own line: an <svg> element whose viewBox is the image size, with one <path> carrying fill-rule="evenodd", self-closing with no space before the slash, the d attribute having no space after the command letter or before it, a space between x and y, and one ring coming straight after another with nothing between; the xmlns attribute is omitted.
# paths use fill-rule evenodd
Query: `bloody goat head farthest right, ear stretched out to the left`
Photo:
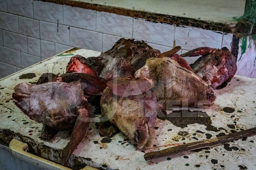
<svg viewBox="0 0 256 170"><path fill-rule="evenodd" d="M237 71L236 58L227 47L221 49L200 47L182 54L182 57L200 56L192 65L193 71L213 89L229 82Z"/></svg>

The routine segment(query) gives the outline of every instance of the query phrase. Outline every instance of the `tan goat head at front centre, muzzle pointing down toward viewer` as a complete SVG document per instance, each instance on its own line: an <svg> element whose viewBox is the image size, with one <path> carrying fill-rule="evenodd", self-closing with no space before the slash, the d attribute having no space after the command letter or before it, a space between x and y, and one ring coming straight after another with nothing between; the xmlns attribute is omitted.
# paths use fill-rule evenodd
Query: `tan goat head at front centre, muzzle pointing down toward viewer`
<svg viewBox="0 0 256 170"><path fill-rule="evenodd" d="M119 77L111 84L108 83L109 87L104 90L100 101L102 117L115 124L138 149L147 149L154 139L158 104L155 94L147 91L150 87L138 88L140 90L135 90L134 93L132 87L135 87L136 81L139 86L148 82L146 79L136 80L129 76ZM117 91L117 95L113 94L113 90ZM102 132L101 129L99 131Z"/></svg>

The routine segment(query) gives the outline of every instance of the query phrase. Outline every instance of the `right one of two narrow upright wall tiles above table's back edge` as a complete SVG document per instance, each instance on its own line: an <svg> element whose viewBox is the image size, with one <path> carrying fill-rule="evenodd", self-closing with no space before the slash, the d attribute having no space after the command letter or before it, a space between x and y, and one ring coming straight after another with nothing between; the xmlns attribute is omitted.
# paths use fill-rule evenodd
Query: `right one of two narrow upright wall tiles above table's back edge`
<svg viewBox="0 0 256 170"><path fill-rule="evenodd" d="M55 55L55 44L50 41L41 40L41 57L49 58Z"/></svg>

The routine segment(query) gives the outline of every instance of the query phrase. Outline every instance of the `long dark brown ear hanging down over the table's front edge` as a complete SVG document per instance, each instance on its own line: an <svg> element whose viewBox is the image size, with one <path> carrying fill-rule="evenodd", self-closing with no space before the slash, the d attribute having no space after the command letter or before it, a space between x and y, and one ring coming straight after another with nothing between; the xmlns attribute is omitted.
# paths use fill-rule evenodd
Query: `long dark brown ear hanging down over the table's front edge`
<svg viewBox="0 0 256 170"><path fill-rule="evenodd" d="M62 150L61 163L65 164L70 155L85 137L91 117L91 105L84 101L77 108L77 121L73 128L70 141L68 145Z"/></svg>

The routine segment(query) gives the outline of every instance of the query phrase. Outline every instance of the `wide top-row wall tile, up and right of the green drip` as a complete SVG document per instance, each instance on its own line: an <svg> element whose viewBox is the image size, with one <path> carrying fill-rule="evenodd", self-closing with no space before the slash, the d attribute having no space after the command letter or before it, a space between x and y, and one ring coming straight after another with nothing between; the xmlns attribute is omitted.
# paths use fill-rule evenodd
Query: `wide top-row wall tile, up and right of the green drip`
<svg viewBox="0 0 256 170"><path fill-rule="evenodd" d="M96 11L63 5L64 24L96 31Z"/></svg>

